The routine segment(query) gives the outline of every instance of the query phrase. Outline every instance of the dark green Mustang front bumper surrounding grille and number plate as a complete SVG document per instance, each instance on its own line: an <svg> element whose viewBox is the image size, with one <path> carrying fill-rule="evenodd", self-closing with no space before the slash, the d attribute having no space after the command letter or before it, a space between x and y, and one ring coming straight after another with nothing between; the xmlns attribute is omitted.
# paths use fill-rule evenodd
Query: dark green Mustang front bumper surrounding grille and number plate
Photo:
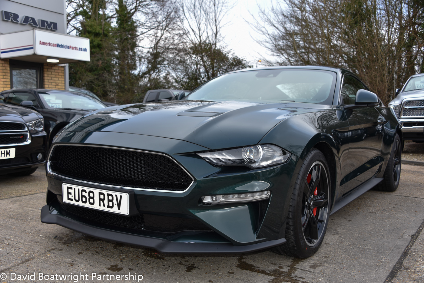
<svg viewBox="0 0 424 283"><path fill-rule="evenodd" d="M195 154L186 154L193 149L207 149L181 140L111 132L78 133L77 138L73 134L61 133L55 144L60 145L62 142L90 146L98 145L97 141L108 141L107 145L102 146L161 152L184 166L194 181L187 190L165 192L84 183L47 171L47 205L42 208L42 222L160 252L243 253L285 243L285 219L290 202L287 195L291 195L290 188L293 188L292 182L296 179L292 176L300 164L296 156L292 155L285 164L268 168L234 167L222 170ZM201 197L207 195L248 193L246 188L251 187L249 184L258 181L269 184L266 188L271 191L269 199L219 205L205 205L201 202ZM63 183L128 193L130 215L117 216L91 208L76 209L77 205L63 202ZM183 226L185 228L179 230Z"/></svg>

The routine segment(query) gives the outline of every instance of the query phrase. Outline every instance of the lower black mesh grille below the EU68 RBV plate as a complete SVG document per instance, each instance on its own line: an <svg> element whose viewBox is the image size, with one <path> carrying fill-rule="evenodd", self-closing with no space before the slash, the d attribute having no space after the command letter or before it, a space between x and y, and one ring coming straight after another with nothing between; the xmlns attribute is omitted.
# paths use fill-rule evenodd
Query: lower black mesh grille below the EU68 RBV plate
<svg viewBox="0 0 424 283"><path fill-rule="evenodd" d="M158 233L177 233L181 231L210 231L211 229L196 219L139 214L125 216L98 211L76 205L59 204L56 209L60 214L81 221L81 218L106 225ZM79 219L78 219L79 218Z"/></svg>

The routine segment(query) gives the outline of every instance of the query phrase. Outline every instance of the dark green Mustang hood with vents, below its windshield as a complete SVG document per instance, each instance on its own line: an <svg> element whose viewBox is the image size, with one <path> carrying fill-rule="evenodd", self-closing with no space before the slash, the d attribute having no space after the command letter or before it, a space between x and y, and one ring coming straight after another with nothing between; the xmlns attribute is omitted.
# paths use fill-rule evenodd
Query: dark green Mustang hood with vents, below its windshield
<svg viewBox="0 0 424 283"><path fill-rule="evenodd" d="M68 125L64 132L135 133L220 149L257 144L282 120L326 108L310 103L251 101L139 103L100 109Z"/></svg>

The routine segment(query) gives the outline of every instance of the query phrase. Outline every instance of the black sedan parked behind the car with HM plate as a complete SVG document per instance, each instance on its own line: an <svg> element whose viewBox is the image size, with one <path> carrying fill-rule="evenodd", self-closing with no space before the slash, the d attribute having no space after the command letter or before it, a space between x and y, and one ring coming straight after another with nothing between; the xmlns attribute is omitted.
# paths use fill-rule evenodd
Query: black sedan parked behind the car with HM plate
<svg viewBox="0 0 424 283"><path fill-rule="evenodd" d="M53 89L10 89L0 92L0 103L26 106L42 114L48 145L70 122L107 107L89 95Z"/></svg>

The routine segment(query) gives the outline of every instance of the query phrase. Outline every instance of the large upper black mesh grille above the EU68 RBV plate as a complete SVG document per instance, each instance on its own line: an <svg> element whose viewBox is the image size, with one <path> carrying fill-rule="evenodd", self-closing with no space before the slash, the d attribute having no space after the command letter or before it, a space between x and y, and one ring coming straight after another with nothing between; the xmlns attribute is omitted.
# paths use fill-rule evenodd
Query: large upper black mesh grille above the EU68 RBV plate
<svg viewBox="0 0 424 283"><path fill-rule="evenodd" d="M77 180L114 186L184 191L192 183L167 156L105 147L56 146L50 168Z"/></svg>

